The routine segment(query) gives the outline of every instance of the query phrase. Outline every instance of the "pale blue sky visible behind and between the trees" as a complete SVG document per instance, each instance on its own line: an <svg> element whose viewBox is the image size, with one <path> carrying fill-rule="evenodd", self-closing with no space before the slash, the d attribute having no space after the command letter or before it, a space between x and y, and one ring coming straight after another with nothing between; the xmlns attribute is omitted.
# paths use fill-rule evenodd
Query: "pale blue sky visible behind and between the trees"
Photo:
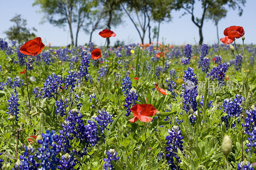
<svg viewBox="0 0 256 170"><path fill-rule="evenodd" d="M32 6L34 0L25 0L22 3L18 0L2 1L0 6L0 37L6 38L4 31L8 30L13 24L10 19L17 14L21 14L22 18L27 19L28 28L35 27L37 29L36 35L40 36L45 44L51 42L52 46L65 46L70 43L69 29L68 27L54 27L49 23L40 24L43 13L39 13L39 6ZM245 43L256 44L255 37L255 25L256 25L256 0L247 0L245 4L244 12L241 17L238 16L238 11L229 10L227 17L223 18L219 22L219 37L222 38L223 31L228 26L243 26L245 30ZM199 16L202 14L201 5L196 4L195 15ZM195 41L199 41L198 28L191 21L190 15L182 16L184 10L172 11L172 21L169 23L163 23L160 26L159 39L162 42L164 39L165 43L173 45L180 45L185 43L195 44ZM116 33L116 37L111 37L111 45L118 39L130 43L140 43L140 37L135 27L132 25L130 19L124 15L124 23L111 28ZM152 26L152 28L154 25ZM93 33L92 41L97 45L104 45L105 39L101 38L98 33L101 30L96 30ZM203 36L204 43L213 44L217 43L216 27L212 21L204 22ZM75 37L75 34L74 34ZM79 33L78 44L83 45L89 41L89 34L86 34L83 30ZM238 40L239 42L242 40ZM146 34L145 43L148 43L148 34ZM240 43L241 43L240 42Z"/></svg>

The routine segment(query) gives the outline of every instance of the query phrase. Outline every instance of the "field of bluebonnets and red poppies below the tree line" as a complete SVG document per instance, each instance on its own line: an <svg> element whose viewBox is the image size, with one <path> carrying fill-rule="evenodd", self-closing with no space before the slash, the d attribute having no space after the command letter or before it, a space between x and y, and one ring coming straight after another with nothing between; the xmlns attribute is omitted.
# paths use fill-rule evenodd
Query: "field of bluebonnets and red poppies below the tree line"
<svg viewBox="0 0 256 170"><path fill-rule="evenodd" d="M255 169L256 46L240 26L224 36L117 48L0 39L0 169Z"/></svg>

